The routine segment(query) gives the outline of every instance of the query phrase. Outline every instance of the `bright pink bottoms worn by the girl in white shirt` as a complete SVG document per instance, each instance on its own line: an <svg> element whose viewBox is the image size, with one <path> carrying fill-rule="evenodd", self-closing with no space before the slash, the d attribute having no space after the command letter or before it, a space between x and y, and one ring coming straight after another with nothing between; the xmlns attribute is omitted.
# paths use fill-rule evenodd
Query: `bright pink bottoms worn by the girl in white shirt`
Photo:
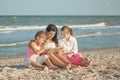
<svg viewBox="0 0 120 80"><path fill-rule="evenodd" d="M74 54L70 58L67 56L67 54L64 54L64 57L66 57L72 64L75 64L77 66L82 66L81 62L84 57L81 53Z"/></svg>

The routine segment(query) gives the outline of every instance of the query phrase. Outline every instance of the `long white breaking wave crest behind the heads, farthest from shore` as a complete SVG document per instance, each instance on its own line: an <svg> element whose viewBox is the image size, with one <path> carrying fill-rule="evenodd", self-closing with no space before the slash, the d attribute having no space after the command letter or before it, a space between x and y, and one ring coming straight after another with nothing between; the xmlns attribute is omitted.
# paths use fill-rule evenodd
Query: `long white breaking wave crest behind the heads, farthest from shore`
<svg viewBox="0 0 120 80"><path fill-rule="evenodd" d="M47 26L47 25L46 25ZM31 29L45 29L46 26L0 26L0 31L6 31L6 30L31 30ZM86 27L103 27L106 26L105 22L97 23L97 24L84 24L84 25L68 25L71 28L86 28ZM58 28L61 28L62 26L57 25Z"/></svg>

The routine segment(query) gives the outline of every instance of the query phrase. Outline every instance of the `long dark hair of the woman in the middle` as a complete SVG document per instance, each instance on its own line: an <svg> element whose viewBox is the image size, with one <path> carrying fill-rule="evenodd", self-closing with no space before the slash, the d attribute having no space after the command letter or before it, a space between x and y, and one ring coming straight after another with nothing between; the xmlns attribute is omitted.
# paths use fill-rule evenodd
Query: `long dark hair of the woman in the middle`
<svg viewBox="0 0 120 80"><path fill-rule="evenodd" d="M55 36L52 38L52 41L54 41L56 44L58 44L57 40L57 27L54 24L49 24L46 28L46 32L54 31Z"/></svg>

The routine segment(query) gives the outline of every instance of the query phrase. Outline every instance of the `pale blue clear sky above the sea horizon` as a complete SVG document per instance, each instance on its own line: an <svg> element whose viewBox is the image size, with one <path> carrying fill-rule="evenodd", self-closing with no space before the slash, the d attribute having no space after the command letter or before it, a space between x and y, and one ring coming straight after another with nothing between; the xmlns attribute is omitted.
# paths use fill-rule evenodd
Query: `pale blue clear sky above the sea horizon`
<svg viewBox="0 0 120 80"><path fill-rule="evenodd" d="M120 15L120 0L0 0L0 15Z"/></svg>

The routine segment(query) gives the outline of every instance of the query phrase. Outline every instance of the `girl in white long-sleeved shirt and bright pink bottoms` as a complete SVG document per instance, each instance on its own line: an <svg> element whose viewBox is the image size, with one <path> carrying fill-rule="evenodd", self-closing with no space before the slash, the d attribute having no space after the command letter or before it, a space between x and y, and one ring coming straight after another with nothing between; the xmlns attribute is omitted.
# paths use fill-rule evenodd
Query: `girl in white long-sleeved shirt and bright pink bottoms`
<svg viewBox="0 0 120 80"><path fill-rule="evenodd" d="M88 66L91 61L78 53L78 45L75 37L72 36L72 29L68 26L61 28L62 39L59 40L59 47L63 48L64 57L71 63L78 66Z"/></svg>

